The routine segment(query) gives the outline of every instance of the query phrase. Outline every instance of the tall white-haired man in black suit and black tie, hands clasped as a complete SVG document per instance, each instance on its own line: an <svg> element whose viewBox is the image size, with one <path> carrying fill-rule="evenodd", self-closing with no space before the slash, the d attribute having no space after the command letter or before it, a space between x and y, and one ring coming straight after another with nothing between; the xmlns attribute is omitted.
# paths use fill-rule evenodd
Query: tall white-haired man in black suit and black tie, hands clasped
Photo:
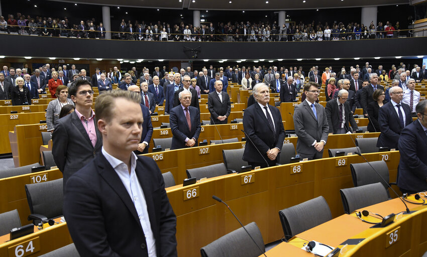
<svg viewBox="0 0 427 257"><path fill-rule="evenodd" d="M285 139L282 116L279 109L268 104L270 92L266 84L256 84L252 94L257 102L246 108L243 116L243 128L251 139L246 142L243 160L252 165L252 168L272 167L280 159Z"/></svg>

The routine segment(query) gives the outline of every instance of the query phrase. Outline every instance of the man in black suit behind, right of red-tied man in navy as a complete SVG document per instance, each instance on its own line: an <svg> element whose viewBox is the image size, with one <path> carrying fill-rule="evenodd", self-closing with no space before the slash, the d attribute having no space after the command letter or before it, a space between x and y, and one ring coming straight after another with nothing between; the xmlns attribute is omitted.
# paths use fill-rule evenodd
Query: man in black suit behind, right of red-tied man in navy
<svg viewBox="0 0 427 257"><path fill-rule="evenodd" d="M210 124L227 124L231 111L230 96L223 90L223 82L215 81L215 92L207 96L207 108L210 112Z"/></svg>

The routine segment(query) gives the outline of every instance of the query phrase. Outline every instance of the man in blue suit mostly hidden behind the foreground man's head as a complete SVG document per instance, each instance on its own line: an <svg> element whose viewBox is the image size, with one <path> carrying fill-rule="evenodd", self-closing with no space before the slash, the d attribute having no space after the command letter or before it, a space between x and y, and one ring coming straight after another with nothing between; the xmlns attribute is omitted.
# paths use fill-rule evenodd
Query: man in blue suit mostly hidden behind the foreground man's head
<svg viewBox="0 0 427 257"><path fill-rule="evenodd" d="M129 91L141 94L141 89L137 85L132 85L128 88ZM142 103L141 110L144 121L142 122L141 141L138 144L138 149L134 151L137 155L147 154L148 145L150 144L151 136L153 135L153 125L151 124L150 110Z"/></svg>

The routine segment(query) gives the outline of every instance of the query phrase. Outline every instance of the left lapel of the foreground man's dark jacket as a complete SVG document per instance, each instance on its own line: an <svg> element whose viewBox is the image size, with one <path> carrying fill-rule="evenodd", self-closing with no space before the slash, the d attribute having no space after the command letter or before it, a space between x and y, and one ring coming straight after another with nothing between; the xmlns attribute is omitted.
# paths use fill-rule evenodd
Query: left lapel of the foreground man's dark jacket
<svg viewBox="0 0 427 257"><path fill-rule="evenodd" d="M105 157L102 155L98 155L98 157L95 159L97 166L100 168L98 170L99 175L105 180L107 184L110 185L110 187L117 193L117 195L122 199L123 203L128 207L129 211L132 213L132 216L134 216L135 220L139 224L139 227L142 230L141 222L138 218L138 213L135 209L135 205L129 196L128 191L126 190L125 186L122 183L122 180L117 175L114 168L110 165L110 163L105 159ZM138 165L138 162L137 162ZM140 182L141 183L141 182ZM141 185L142 186L142 185ZM144 192L145 194L145 192Z"/></svg>

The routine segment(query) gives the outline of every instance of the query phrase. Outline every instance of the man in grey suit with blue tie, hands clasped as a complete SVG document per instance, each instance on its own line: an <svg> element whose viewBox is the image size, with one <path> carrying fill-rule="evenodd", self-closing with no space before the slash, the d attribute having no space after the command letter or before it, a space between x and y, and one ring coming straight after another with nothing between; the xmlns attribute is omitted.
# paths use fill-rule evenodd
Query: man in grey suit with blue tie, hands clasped
<svg viewBox="0 0 427 257"><path fill-rule="evenodd" d="M328 118L325 108L316 103L319 89L314 82L304 85L305 100L295 106L293 124L298 136L296 152L308 160L321 159L328 141Z"/></svg>

